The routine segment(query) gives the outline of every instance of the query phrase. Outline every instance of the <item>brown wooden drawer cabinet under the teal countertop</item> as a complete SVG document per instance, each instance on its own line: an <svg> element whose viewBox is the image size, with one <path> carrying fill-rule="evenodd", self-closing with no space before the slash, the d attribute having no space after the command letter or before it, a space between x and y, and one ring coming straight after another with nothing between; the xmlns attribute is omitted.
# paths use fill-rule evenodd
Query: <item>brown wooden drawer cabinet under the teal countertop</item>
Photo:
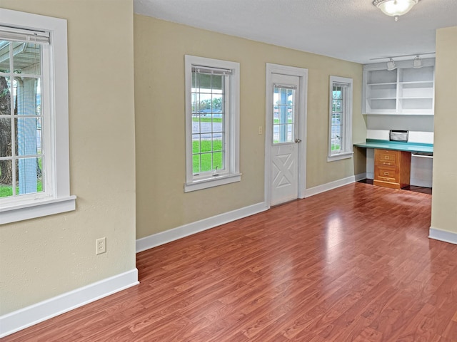
<svg viewBox="0 0 457 342"><path fill-rule="evenodd" d="M374 150L374 185L401 189L409 185L411 152Z"/></svg>

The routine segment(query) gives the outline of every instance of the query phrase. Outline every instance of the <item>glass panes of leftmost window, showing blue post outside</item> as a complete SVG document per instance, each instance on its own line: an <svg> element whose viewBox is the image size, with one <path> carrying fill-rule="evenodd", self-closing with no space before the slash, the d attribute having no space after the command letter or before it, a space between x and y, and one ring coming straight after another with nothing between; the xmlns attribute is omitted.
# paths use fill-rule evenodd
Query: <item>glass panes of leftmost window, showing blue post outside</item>
<svg viewBox="0 0 457 342"><path fill-rule="evenodd" d="M0 39L0 198L44 192L41 44Z"/></svg>

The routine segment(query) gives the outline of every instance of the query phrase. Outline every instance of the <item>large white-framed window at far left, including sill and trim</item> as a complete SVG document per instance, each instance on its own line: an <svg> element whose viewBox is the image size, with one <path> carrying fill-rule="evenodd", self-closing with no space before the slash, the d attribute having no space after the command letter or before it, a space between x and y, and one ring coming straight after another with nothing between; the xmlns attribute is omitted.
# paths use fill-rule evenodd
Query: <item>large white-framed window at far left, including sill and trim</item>
<svg viewBox="0 0 457 342"><path fill-rule="evenodd" d="M0 9L0 224L75 209L66 21Z"/></svg>

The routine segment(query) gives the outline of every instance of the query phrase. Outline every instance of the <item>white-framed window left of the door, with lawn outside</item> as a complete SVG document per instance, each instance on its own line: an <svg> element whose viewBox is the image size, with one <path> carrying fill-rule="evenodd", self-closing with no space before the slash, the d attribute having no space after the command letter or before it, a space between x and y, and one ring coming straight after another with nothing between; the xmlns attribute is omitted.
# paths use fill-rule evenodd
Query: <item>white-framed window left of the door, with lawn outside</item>
<svg viewBox="0 0 457 342"><path fill-rule="evenodd" d="M239 63L186 56L186 183L239 182Z"/></svg>

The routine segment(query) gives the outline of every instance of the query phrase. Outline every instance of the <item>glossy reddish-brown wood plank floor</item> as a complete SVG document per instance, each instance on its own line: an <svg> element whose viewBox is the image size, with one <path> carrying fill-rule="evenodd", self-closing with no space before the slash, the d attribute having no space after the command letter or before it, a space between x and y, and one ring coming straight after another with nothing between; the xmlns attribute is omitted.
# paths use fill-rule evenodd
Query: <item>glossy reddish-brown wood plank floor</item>
<svg viewBox="0 0 457 342"><path fill-rule="evenodd" d="M354 183L137 254L141 284L1 341L457 341L431 195Z"/></svg>

